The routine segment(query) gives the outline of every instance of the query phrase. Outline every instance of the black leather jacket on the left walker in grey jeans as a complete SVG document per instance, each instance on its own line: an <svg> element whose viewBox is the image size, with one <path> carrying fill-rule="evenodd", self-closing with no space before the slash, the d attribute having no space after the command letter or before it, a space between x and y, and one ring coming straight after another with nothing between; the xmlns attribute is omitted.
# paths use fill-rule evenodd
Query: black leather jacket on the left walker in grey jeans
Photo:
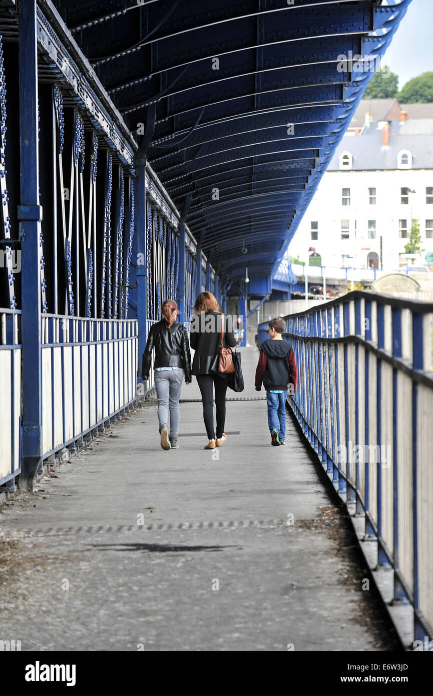
<svg viewBox="0 0 433 696"><path fill-rule="evenodd" d="M168 329L166 320L161 319L150 327L141 363L142 379L149 377L153 348L155 348L154 368L183 367L185 381L191 381L191 352L187 329L183 324L173 322Z"/></svg>

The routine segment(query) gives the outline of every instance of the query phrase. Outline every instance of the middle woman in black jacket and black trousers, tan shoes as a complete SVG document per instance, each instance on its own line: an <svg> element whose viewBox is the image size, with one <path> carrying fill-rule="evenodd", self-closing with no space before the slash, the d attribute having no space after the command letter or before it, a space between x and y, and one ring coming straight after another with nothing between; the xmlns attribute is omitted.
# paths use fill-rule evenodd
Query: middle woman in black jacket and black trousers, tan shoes
<svg viewBox="0 0 433 696"><path fill-rule="evenodd" d="M226 391L228 375L214 374L210 368L221 345L221 319L224 322L223 347L234 348L235 336L226 317L219 312L218 302L212 292L200 292L194 306L196 317L191 321L191 348L196 351L192 362L203 400L203 420L209 442L205 450L214 450L226 442ZM216 404L216 433L214 429L214 390ZM215 437L216 435L216 437Z"/></svg>

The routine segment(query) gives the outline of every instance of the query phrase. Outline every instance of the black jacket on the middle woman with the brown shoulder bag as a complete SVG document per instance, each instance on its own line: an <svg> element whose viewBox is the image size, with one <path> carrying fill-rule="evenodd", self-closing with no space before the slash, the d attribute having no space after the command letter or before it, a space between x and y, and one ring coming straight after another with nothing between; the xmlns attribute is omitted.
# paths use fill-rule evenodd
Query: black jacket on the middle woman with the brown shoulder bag
<svg viewBox="0 0 433 696"><path fill-rule="evenodd" d="M224 315L223 346L234 348L236 345L232 326L227 325ZM211 374L210 365L221 345L221 315L219 312L204 312L191 319L191 348L196 352L192 361L192 374Z"/></svg>

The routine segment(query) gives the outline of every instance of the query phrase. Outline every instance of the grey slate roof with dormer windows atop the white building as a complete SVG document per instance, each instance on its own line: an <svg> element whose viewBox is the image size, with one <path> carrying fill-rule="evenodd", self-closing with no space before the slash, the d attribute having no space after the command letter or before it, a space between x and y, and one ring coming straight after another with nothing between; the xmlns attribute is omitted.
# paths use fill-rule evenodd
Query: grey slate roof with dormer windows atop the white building
<svg viewBox="0 0 433 696"><path fill-rule="evenodd" d="M433 119L391 122L389 148L382 148L382 132L374 122L358 137L344 136L336 148L328 171L341 171L340 155L353 156L351 171L397 169L401 150L409 150L413 169L433 169Z"/></svg>

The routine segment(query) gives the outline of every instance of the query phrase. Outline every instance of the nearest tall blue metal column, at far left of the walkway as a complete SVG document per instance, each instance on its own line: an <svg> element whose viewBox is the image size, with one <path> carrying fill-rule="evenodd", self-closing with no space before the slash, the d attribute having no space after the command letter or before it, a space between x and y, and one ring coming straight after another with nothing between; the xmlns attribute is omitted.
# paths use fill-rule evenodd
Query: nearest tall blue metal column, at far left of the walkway
<svg viewBox="0 0 433 696"><path fill-rule="evenodd" d="M32 490L42 457L42 349L40 346L40 221L38 175L38 62L36 0L21 3L19 65L19 238L22 239L22 473Z"/></svg>

